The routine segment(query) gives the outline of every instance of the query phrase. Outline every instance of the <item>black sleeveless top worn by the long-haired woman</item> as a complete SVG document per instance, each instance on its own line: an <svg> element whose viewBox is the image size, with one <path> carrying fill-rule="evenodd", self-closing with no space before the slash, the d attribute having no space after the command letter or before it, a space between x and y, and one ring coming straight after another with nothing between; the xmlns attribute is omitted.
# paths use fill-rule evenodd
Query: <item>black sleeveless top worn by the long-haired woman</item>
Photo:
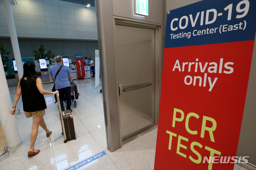
<svg viewBox="0 0 256 170"><path fill-rule="evenodd" d="M36 81L36 79L34 81ZM36 82L34 82L34 84L36 84ZM24 79L21 83L23 110L33 112L46 109L47 106L44 95L39 92L36 86L32 85L30 91L28 91L27 86L30 86L30 84Z"/></svg>

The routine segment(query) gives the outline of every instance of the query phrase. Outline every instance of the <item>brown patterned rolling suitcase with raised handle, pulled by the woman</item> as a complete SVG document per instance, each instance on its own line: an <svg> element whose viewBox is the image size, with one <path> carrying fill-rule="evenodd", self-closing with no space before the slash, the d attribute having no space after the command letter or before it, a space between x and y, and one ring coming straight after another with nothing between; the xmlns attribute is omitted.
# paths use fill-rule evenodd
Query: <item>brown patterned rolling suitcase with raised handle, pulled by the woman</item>
<svg viewBox="0 0 256 170"><path fill-rule="evenodd" d="M62 124L62 134L64 135L64 143L71 139L76 139L75 137L75 128L74 128L74 121L73 115L70 113L69 110L61 111L60 103L59 103L59 93L57 93L57 100L59 106L59 113L60 113L60 121Z"/></svg>

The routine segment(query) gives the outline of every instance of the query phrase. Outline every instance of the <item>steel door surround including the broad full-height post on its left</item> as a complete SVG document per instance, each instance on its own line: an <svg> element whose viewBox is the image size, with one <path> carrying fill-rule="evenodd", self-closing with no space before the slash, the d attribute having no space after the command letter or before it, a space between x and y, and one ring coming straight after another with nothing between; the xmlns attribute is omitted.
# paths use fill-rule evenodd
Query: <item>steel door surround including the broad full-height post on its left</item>
<svg viewBox="0 0 256 170"><path fill-rule="evenodd" d="M153 27L155 31L155 127L158 125L158 115L160 106L161 73L162 73L162 24L147 22L143 20L134 20L124 17L113 16L113 6L111 0L96 0L96 19L98 32L98 45L100 53L100 69L102 83L102 98L105 118L107 149L110 152L121 148L122 143L119 124L118 107L118 81L116 69L116 53L114 27L115 20L119 19L124 24L144 25L144 27ZM117 20L117 21L119 21ZM160 22L162 23L162 21ZM153 130L153 129L151 129ZM147 131L137 135L143 135ZM134 137L135 138L135 137ZM134 139L133 138L133 139ZM126 141L129 142L129 141Z"/></svg>

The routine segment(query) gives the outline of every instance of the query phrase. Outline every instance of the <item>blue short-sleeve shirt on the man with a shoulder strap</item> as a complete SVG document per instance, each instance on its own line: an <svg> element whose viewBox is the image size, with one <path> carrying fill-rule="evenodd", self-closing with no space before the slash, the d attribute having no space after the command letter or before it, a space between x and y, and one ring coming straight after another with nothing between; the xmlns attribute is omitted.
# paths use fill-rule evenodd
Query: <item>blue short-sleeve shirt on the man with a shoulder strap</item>
<svg viewBox="0 0 256 170"><path fill-rule="evenodd" d="M52 66L50 68L49 75L52 75L53 78L55 78L55 75L56 75L57 71L59 70L60 66L62 66L62 65L57 64L55 66ZM68 75L71 72L72 71L70 70L70 68L68 66L63 66L60 69L60 72L57 75L56 80L55 80L55 89L61 89L61 88L65 88L65 87L70 86L70 83L69 83L69 80L68 80Z"/></svg>

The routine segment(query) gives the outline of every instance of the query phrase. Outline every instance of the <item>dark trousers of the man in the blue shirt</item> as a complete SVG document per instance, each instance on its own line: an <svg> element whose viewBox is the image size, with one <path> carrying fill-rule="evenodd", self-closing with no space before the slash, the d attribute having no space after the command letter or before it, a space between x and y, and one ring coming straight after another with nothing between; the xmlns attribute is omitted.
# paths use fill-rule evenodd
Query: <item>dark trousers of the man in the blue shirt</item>
<svg viewBox="0 0 256 170"><path fill-rule="evenodd" d="M64 104L63 104L64 97L66 97L66 104L67 104L66 109L70 110L70 106L71 106L71 88L70 88L70 86L58 89L58 91L59 91L60 107L61 107L62 111L65 110Z"/></svg>

